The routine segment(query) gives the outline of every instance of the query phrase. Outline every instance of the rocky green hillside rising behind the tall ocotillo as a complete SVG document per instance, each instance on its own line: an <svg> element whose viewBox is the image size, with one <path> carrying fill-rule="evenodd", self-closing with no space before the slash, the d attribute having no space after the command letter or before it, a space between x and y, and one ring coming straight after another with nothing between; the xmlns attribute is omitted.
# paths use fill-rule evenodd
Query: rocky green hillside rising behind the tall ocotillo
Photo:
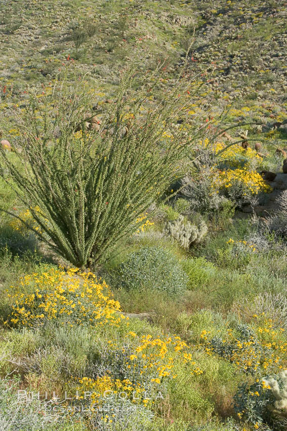
<svg viewBox="0 0 287 431"><path fill-rule="evenodd" d="M172 83L188 52L202 81L194 112L228 125L252 123L258 139L284 147L287 137L287 3L274 1L2 0L0 109L25 98L26 86L55 78L73 59L98 96L112 98L119 70L141 57L143 70L167 59ZM11 96L13 96L11 98ZM192 115L192 112L191 112ZM262 134L263 133L263 134Z"/></svg>

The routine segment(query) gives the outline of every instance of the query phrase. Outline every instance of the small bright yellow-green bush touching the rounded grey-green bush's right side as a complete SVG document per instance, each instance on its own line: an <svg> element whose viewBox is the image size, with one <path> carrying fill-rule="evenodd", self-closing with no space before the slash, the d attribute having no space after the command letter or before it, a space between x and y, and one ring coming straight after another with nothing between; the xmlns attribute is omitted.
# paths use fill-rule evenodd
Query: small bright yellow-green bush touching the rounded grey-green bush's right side
<svg viewBox="0 0 287 431"><path fill-rule="evenodd" d="M188 275L187 288L189 290L201 288L205 283L209 283L216 275L216 267L212 262L204 258L190 258L181 261L183 270Z"/></svg>

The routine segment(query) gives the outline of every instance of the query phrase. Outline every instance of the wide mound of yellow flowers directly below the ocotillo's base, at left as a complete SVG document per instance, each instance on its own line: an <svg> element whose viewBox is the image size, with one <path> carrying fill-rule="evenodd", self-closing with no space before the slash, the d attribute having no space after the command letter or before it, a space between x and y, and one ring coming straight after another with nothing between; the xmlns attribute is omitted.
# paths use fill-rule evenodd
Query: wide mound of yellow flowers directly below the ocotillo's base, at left
<svg viewBox="0 0 287 431"><path fill-rule="evenodd" d="M34 293L21 293L29 288ZM67 322L70 326L84 322L117 326L124 318L106 283L99 282L92 272L80 272L77 268L67 272L49 268L41 274L26 275L11 289L15 292L8 294L13 311L6 324L32 327L63 315L70 316Z"/></svg>

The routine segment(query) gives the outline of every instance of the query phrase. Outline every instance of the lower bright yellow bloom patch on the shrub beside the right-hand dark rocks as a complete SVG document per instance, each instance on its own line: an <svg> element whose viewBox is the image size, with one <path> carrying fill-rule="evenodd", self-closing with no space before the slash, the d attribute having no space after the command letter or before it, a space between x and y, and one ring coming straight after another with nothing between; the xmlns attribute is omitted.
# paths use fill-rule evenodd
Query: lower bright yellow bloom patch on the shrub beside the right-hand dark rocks
<svg viewBox="0 0 287 431"><path fill-rule="evenodd" d="M219 171L213 184L214 188L219 189L228 189L236 186L239 186L245 191L245 193L243 192L243 196L248 193L257 195L259 192L269 193L272 191L271 187L258 172L239 168Z"/></svg>

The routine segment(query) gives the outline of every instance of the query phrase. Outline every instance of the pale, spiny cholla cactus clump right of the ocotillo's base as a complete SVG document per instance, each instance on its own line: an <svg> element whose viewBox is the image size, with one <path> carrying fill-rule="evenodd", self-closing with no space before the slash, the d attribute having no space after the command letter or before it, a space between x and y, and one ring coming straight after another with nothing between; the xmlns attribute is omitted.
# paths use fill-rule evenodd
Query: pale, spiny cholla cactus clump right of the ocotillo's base
<svg viewBox="0 0 287 431"><path fill-rule="evenodd" d="M198 244L207 234L208 228L205 222L200 222L198 226L184 221L183 215L173 221L167 222L163 233L175 238L182 247L189 248L192 244Z"/></svg>

